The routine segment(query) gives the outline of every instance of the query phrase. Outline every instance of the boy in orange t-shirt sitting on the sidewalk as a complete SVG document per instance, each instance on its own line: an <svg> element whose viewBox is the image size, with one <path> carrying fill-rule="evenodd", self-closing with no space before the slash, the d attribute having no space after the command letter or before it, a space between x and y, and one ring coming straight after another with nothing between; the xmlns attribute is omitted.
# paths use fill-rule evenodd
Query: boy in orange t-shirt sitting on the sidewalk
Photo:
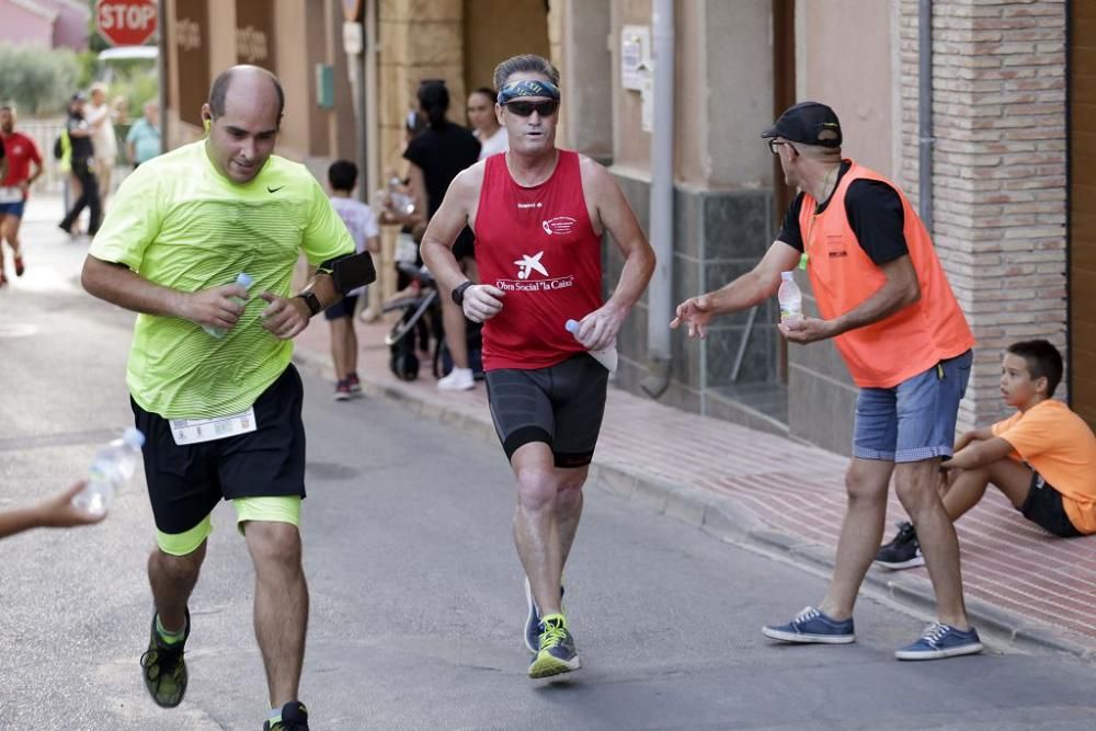
<svg viewBox="0 0 1096 731"><path fill-rule="evenodd" d="M1062 379L1062 355L1046 340L1008 346L1001 393L1019 411L992 426L967 432L955 456L940 464L948 486L944 509L952 522L973 507L992 483L1024 517L1062 538L1096 534L1096 437L1065 403L1051 399ZM922 566L913 525L879 549L889 569Z"/></svg>

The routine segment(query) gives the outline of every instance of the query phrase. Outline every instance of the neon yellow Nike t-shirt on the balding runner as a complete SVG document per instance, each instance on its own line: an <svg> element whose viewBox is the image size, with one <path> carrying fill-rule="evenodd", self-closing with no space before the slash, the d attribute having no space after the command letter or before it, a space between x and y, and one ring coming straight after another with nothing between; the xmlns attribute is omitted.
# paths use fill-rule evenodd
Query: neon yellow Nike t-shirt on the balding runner
<svg viewBox="0 0 1096 731"><path fill-rule="evenodd" d="M292 341L262 328L262 292L289 296L299 252L310 264L354 252L354 241L308 170L271 156L246 184L221 175L205 141L137 168L111 198L90 253L181 292L254 284L236 327L218 340L174 317L138 315L126 381L165 419L224 416L251 407L289 364Z"/></svg>

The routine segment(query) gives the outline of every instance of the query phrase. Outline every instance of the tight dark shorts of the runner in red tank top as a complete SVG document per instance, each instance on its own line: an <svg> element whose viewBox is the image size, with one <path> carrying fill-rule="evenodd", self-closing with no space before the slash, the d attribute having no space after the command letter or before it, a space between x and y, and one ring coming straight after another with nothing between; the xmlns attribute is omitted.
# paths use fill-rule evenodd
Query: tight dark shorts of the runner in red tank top
<svg viewBox="0 0 1096 731"><path fill-rule="evenodd" d="M584 467L594 456L605 413L608 370L586 353L548 368L487 373L491 420L510 459L544 442L557 467Z"/></svg>

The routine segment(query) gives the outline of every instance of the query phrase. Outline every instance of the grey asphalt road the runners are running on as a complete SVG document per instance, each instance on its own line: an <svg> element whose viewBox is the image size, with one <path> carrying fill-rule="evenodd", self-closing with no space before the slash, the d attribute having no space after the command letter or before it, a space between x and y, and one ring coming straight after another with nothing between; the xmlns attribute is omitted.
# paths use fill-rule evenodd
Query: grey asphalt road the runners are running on
<svg viewBox="0 0 1096 731"><path fill-rule="evenodd" d="M133 316L79 290L85 244L54 230L27 225L27 275L0 292L0 510L71 483L132 423ZM304 376L301 699L315 729L1093 728L1093 666L992 648L900 663L893 649L924 618L870 597L857 643L777 646L761 625L817 601L822 579L597 488L567 572L584 667L529 681L501 449L396 403L335 403ZM138 667L153 545L142 480L99 526L0 544L0 728L261 728L250 561L231 507L214 518L191 603L190 692L170 711Z"/></svg>

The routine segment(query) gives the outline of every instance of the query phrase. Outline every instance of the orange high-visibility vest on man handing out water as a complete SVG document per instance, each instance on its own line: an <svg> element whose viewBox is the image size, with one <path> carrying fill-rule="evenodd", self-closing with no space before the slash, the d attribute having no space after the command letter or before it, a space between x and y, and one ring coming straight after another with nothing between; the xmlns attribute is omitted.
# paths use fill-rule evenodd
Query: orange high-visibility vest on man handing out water
<svg viewBox="0 0 1096 731"><path fill-rule="evenodd" d="M860 248L845 214L845 194L855 180L890 185L902 201L905 244L921 284L921 299L872 324L837 335L837 350L860 388L892 388L940 361L974 346L959 302L933 241L902 191L889 180L855 162L842 175L825 210L803 193L799 228L807 252L807 270L819 311L833 319L855 309L882 287L887 276Z"/></svg>

